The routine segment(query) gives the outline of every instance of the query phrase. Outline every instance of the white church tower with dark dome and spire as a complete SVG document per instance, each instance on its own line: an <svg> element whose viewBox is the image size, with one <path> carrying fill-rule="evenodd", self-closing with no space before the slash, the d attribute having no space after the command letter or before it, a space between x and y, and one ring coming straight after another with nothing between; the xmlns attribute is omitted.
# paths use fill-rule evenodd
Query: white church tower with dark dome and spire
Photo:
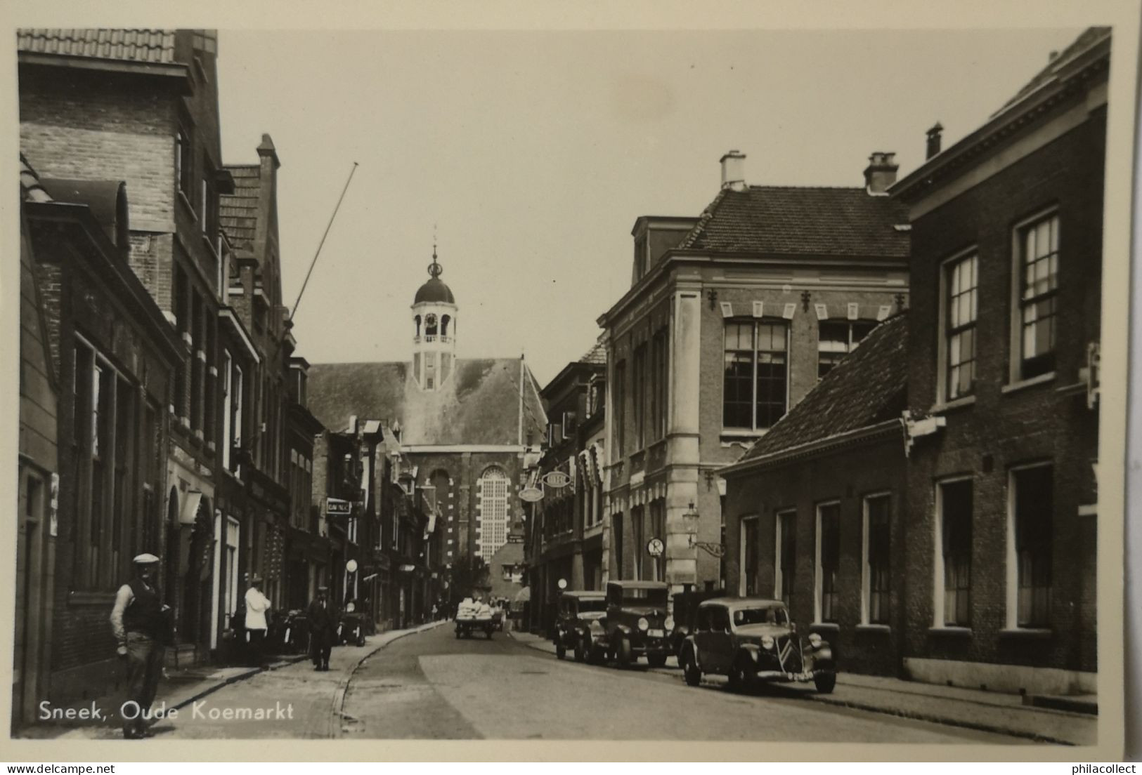
<svg viewBox="0 0 1142 775"><path fill-rule="evenodd" d="M456 365L456 298L443 272L433 245L431 276L412 301L412 377L421 390L441 389Z"/></svg>

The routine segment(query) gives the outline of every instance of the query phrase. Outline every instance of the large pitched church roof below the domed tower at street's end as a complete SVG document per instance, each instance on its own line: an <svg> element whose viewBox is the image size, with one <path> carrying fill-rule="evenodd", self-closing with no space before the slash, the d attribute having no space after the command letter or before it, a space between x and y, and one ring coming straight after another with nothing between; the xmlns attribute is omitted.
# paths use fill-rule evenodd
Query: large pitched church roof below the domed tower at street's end
<svg viewBox="0 0 1142 775"><path fill-rule="evenodd" d="M520 421L518 358L457 358L437 391L421 390L408 363L315 363L309 366L309 411L333 430L349 415L396 420L402 444L515 444ZM524 366L523 434L538 442L547 420ZM530 385L529 385L530 382Z"/></svg>

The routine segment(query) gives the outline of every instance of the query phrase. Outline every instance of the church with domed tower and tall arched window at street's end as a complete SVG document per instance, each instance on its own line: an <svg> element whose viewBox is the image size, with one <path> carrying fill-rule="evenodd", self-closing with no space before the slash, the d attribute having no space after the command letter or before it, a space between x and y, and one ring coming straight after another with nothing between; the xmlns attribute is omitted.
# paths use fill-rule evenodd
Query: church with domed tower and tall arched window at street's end
<svg viewBox="0 0 1142 775"><path fill-rule="evenodd" d="M379 576L383 620L408 611L410 600L424 606L433 588L427 582L445 581L460 557L488 563L509 533L522 532L518 490L524 469L538 459L547 425L522 358L456 357L458 306L441 273L434 251L432 276L412 304L409 361L309 368L314 415L332 433L355 433L370 423L380 429L385 444L363 451L367 469L375 477L389 470L388 479L433 517L433 532L440 534L443 571L402 562L389 568L388 581ZM384 468L383 455L391 468ZM376 490L383 492L380 485ZM379 518L384 523L391 515ZM426 604L431 608L432 600Z"/></svg>

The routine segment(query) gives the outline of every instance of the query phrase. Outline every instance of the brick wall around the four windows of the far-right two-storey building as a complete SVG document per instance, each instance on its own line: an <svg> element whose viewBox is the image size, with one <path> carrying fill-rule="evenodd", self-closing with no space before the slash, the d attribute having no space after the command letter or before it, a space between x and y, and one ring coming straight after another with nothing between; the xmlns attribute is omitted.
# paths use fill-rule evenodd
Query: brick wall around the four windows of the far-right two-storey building
<svg viewBox="0 0 1142 775"><path fill-rule="evenodd" d="M939 209L912 229L912 331L909 403L931 411L936 395L935 328L939 264L975 245L979 324L975 401L950 410L947 428L914 447L909 478L910 578L931 579L935 551L935 482L973 479L972 611L970 635L934 635L932 583L910 587L906 656L1094 670L1095 535L1097 517L1079 506L1096 502L1097 412L1086 407L1080 382L1088 341L1099 338L1102 184L1105 114L1091 120ZM1060 216L1057 368L1053 380L1004 391L1012 357L1012 228L1055 205ZM1052 461L1054 536L1049 632L1004 632L1007 623L1006 547L1008 471Z"/></svg>

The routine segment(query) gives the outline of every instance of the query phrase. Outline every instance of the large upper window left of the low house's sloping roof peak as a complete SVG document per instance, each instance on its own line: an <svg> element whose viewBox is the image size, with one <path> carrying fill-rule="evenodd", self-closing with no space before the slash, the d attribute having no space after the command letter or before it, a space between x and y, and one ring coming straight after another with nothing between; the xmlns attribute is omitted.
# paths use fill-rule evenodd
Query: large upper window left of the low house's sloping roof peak
<svg viewBox="0 0 1142 775"><path fill-rule="evenodd" d="M786 413L788 329L783 323L725 326L722 425L769 428Z"/></svg>

